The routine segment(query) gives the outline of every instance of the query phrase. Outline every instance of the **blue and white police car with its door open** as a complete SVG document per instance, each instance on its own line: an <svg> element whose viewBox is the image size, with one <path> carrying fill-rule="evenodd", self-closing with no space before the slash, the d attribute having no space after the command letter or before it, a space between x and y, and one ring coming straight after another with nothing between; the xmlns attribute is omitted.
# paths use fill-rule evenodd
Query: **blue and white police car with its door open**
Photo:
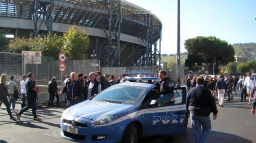
<svg viewBox="0 0 256 143"><path fill-rule="evenodd" d="M66 109L61 136L81 143L138 143L145 136L181 133L188 123L185 88L173 94L175 101L163 101L154 84L115 84Z"/></svg>

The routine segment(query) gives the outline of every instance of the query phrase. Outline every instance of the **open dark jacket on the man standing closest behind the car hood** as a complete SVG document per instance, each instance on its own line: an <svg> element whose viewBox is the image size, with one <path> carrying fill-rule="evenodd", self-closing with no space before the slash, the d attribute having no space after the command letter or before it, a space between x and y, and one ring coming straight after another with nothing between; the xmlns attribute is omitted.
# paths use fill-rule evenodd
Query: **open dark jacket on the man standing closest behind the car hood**
<svg viewBox="0 0 256 143"><path fill-rule="evenodd" d="M67 92L67 86L68 83L71 82L71 79L67 80L67 82L65 83L64 87L62 88L62 92L66 93ZM74 97L77 97L79 101L84 101L84 95L83 95L83 84L80 80L76 79L75 83L73 84L73 91L72 91L72 97L67 96L69 100L74 100Z"/></svg>

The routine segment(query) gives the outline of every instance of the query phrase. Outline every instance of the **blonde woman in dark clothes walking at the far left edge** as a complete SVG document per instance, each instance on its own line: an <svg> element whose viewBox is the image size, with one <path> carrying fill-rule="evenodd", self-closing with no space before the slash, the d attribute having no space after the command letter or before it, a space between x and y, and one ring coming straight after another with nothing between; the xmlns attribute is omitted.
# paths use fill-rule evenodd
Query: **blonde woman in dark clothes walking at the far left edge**
<svg viewBox="0 0 256 143"><path fill-rule="evenodd" d="M13 114L11 113L11 109L10 109L10 105L9 105L9 101L7 99L7 75L6 74L2 74L0 76L0 104L4 103L4 105L6 106L7 112L10 115L10 119L14 119Z"/></svg>

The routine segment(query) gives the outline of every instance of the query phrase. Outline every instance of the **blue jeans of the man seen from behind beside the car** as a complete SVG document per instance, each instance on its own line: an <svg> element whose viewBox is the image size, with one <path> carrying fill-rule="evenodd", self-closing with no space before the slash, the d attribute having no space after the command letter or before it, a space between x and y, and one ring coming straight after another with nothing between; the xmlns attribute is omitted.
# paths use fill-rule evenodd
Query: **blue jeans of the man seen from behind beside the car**
<svg viewBox="0 0 256 143"><path fill-rule="evenodd" d="M190 121L194 132L194 143L207 143L207 138L211 130L210 117L190 114Z"/></svg>

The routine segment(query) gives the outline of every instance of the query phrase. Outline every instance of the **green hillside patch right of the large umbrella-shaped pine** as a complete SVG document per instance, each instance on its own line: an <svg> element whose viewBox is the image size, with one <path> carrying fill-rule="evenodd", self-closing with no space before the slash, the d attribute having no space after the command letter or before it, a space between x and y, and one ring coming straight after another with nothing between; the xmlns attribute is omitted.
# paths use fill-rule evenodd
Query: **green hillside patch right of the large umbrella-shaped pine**
<svg viewBox="0 0 256 143"><path fill-rule="evenodd" d="M233 45L235 55L246 57L247 60L256 59L256 43L239 43Z"/></svg>

